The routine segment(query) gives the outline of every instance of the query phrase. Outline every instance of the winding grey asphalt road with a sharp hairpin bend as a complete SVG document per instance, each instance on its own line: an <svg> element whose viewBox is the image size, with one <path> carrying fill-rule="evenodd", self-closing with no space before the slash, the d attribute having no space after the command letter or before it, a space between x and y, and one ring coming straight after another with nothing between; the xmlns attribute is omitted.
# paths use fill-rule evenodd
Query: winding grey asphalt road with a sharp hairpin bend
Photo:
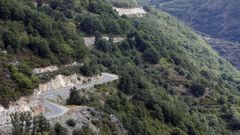
<svg viewBox="0 0 240 135"><path fill-rule="evenodd" d="M117 75L109 74L109 73L102 73L100 80L94 81L94 82L88 82L88 83L81 84L81 85L76 85L75 87L77 89L86 89L86 88L94 87L95 85L98 85L98 84L104 84L104 83L111 82L111 81L114 81L117 79L119 79L119 77ZM65 106L58 105L56 103L51 102L50 100L54 99L58 96L69 96L71 88L72 87L65 87L65 88L61 88L58 90L42 93L42 97L44 99L44 107L46 108L44 116L47 119L59 117L68 111L68 108L66 108Z"/></svg>

